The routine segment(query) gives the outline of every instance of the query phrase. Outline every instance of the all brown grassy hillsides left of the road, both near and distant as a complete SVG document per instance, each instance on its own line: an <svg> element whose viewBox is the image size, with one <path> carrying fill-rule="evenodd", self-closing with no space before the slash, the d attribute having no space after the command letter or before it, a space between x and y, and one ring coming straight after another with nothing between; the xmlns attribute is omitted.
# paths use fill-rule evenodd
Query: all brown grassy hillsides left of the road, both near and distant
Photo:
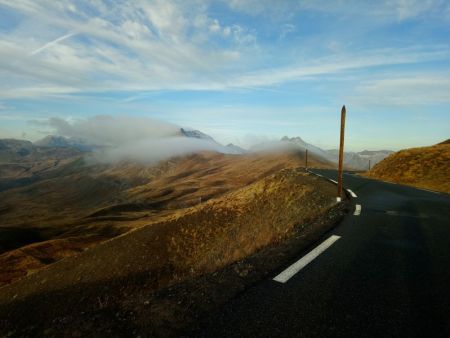
<svg viewBox="0 0 450 338"><path fill-rule="evenodd" d="M69 155L0 163L0 336L167 336L297 257L344 212L303 152L153 165Z"/></svg>

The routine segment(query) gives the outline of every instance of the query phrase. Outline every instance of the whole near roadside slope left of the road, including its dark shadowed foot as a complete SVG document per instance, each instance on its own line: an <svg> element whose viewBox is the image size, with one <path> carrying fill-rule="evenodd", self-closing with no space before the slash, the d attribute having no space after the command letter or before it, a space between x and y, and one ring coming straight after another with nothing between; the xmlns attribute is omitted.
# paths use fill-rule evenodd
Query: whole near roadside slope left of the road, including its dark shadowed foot
<svg viewBox="0 0 450 338"><path fill-rule="evenodd" d="M282 169L60 260L0 289L0 336L185 336L303 255L342 217L334 196L331 183Z"/></svg>

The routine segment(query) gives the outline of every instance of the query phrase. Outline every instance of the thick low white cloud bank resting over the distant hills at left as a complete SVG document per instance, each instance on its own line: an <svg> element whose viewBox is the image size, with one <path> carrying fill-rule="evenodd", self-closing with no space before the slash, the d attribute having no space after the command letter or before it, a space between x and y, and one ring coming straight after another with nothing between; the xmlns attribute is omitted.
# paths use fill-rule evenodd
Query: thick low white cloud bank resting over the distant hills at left
<svg viewBox="0 0 450 338"><path fill-rule="evenodd" d="M52 134L97 146L94 159L151 164L200 151L227 152L211 139L183 136L174 124L138 117L95 116L72 122L51 118Z"/></svg>

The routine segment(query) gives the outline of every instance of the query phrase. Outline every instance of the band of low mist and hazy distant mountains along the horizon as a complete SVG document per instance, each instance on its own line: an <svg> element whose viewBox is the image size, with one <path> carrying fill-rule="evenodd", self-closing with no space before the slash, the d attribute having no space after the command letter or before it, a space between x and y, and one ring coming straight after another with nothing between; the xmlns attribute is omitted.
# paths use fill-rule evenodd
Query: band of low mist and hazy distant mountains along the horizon
<svg viewBox="0 0 450 338"><path fill-rule="evenodd" d="M137 161L156 163L158 161L185 154L213 151L225 154L248 152L234 144L224 146L211 136L195 129L180 127L172 123L144 117L95 116L68 122L51 118L47 126L52 129L48 135L34 144L28 141L9 141L10 145L0 148L0 159L31 159L30 154L45 154L47 157L61 158L91 154L90 160L101 163ZM6 150L8 148L8 150ZM66 150L64 153L63 150ZM304 151L327 161L338 161L337 150L324 150L304 141L301 137L284 136L279 141L256 144L250 152L261 151ZM56 154L57 152L60 154ZM344 165L349 169L366 170L383 160L392 152L389 150L346 152ZM28 156L28 157L27 157ZM31 156L31 157L30 157Z"/></svg>

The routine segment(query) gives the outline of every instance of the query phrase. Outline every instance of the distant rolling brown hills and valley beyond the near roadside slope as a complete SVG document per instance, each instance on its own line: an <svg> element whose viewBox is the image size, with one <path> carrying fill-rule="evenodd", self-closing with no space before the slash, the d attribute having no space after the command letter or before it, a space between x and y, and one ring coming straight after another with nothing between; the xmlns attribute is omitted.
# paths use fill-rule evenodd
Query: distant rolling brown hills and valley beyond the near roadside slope
<svg viewBox="0 0 450 338"><path fill-rule="evenodd" d="M0 192L0 285L131 229L181 217L303 160L296 153L202 153L155 166L87 166L75 159L51 177Z"/></svg>

